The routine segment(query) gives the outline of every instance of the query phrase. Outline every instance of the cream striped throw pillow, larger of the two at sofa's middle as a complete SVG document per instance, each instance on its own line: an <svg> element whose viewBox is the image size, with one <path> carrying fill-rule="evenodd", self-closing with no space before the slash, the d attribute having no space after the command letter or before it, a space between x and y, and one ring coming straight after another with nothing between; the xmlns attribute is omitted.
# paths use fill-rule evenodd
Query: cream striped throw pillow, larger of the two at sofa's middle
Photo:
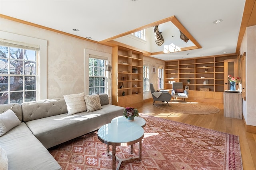
<svg viewBox="0 0 256 170"><path fill-rule="evenodd" d="M68 107L68 115L86 111L84 92L79 94L64 95L64 99Z"/></svg>

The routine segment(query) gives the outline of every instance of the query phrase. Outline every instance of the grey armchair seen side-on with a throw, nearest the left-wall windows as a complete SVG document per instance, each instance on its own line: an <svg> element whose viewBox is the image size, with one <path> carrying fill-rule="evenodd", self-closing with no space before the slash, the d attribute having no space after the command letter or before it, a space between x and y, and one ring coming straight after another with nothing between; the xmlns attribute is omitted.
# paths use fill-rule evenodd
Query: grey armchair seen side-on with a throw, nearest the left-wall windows
<svg viewBox="0 0 256 170"><path fill-rule="evenodd" d="M169 92L157 92L154 89L154 86L152 83L150 83L150 92L154 100L153 105L156 101L162 101L162 102L167 102L168 106L170 106L168 102L170 102L172 96Z"/></svg>

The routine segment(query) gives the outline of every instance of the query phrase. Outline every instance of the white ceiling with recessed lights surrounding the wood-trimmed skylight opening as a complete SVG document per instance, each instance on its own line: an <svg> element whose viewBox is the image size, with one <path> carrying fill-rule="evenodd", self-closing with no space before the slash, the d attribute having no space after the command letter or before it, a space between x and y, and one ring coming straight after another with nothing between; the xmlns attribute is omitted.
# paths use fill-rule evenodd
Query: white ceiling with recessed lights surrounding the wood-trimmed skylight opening
<svg viewBox="0 0 256 170"><path fill-rule="evenodd" d="M175 16L202 48L152 56L171 60L235 53L244 4L245 0L0 0L0 14L98 42ZM214 24L218 19L223 21ZM165 45L180 41L161 29ZM149 53L163 49L149 44Z"/></svg>

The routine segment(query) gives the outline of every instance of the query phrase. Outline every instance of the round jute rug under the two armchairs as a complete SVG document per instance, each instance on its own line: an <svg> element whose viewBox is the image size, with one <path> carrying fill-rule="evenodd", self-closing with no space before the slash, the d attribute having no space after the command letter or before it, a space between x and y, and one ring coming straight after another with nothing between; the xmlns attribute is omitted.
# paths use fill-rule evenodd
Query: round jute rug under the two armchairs
<svg viewBox="0 0 256 170"><path fill-rule="evenodd" d="M154 106L159 109L174 113L206 115L218 113L220 111L218 107L197 102L169 102L169 105L170 106L168 106L166 102L158 102L154 104Z"/></svg>

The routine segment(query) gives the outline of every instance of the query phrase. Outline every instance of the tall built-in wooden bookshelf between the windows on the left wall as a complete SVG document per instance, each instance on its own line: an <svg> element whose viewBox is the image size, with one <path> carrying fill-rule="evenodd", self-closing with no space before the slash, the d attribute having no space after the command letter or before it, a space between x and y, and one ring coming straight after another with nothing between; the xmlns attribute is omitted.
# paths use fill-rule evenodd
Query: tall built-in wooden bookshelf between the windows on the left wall
<svg viewBox="0 0 256 170"><path fill-rule="evenodd" d="M123 107L142 105L143 53L116 46L112 55L112 103Z"/></svg>

